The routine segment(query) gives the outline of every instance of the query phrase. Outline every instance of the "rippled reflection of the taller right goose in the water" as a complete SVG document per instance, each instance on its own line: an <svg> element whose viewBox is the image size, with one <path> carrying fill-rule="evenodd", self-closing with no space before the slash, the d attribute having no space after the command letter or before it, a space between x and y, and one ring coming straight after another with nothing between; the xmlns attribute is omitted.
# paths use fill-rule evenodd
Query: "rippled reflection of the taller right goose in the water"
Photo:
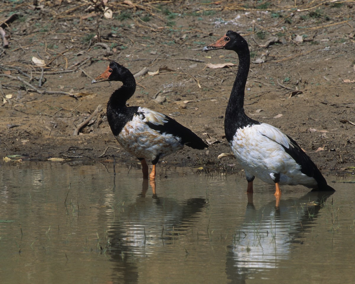
<svg viewBox="0 0 355 284"><path fill-rule="evenodd" d="M231 283L245 283L248 274L278 268L289 259L292 249L303 244L307 232L316 226L318 213L332 194L311 191L260 209L249 202L245 223L236 229L227 249L226 274Z"/></svg>

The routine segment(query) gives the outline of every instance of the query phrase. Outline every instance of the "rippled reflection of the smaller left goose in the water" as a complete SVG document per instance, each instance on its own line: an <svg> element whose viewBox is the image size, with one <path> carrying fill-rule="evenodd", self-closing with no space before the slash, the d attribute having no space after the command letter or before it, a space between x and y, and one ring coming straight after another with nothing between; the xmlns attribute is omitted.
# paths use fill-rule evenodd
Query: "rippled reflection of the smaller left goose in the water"
<svg viewBox="0 0 355 284"><path fill-rule="evenodd" d="M142 192L109 231L111 247L107 253L116 262L114 283L138 283L137 257L149 257L157 246L171 244L189 232L206 205L205 198L176 201L159 197L155 181L150 185L153 194L148 196L148 180L143 180Z"/></svg>

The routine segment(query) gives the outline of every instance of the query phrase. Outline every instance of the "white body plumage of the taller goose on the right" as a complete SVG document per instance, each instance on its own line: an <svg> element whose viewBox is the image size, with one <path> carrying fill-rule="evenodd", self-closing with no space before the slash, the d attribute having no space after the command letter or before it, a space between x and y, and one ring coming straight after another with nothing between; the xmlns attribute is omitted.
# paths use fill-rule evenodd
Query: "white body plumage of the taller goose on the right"
<svg viewBox="0 0 355 284"><path fill-rule="evenodd" d="M303 174L301 165L285 151L284 147L294 147L287 135L272 125L261 123L240 128L230 146L249 179L257 176L274 185L274 174L279 173L280 185L317 186L317 181Z"/></svg>

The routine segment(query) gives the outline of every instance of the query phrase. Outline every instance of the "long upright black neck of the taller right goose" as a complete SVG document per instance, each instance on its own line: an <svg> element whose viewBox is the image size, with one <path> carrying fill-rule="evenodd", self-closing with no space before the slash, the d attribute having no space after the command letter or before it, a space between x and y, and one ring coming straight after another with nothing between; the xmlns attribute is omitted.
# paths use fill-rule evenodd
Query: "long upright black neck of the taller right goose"
<svg viewBox="0 0 355 284"><path fill-rule="evenodd" d="M228 141L233 140L233 136L239 128L259 123L246 116L244 112L244 90L250 66L249 48L244 39L236 52L239 58L238 73L235 77L224 119L224 131Z"/></svg>

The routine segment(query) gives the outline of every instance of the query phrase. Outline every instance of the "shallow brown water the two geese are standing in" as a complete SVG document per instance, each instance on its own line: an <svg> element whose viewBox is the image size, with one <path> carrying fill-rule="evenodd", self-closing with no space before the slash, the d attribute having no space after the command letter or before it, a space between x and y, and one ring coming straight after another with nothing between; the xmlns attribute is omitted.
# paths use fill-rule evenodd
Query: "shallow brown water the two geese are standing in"
<svg viewBox="0 0 355 284"><path fill-rule="evenodd" d="M331 196L159 164L0 164L1 283L353 283L353 179ZM166 176L166 178L165 178ZM328 180L330 182L331 180ZM66 201L66 202L65 202ZM249 200L250 201L250 200ZM313 203L316 201L317 203Z"/></svg>

